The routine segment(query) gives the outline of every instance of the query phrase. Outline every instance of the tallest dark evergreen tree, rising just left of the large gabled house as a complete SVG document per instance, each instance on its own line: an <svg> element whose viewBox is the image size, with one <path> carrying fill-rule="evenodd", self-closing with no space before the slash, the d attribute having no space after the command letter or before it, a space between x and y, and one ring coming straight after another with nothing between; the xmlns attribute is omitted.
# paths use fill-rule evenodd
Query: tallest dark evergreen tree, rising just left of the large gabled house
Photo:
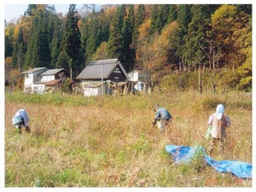
<svg viewBox="0 0 256 192"><path fill-rule="evenodd" d="M79 31L79 16L75 4L70 4L67 20L61 40L61 53L58 56L57 66L69 67L70 79L81 71L83 58L81 55L81 34ZM74 70L73 70L74 69Z"/></svg>

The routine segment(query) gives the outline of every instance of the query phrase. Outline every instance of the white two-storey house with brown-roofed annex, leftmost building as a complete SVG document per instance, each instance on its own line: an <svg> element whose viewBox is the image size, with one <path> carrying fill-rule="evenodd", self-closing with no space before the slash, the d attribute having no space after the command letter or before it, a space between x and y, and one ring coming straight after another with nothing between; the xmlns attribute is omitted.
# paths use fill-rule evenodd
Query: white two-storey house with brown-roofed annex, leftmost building
<svg viewBox="0 0 256 192"><path fill-rule="evenodd" d="M36 67L23 72L25 74L24 92L43 94L44 91L54 91L61 88L68 77L63 68L47 69Z"/></svg>

